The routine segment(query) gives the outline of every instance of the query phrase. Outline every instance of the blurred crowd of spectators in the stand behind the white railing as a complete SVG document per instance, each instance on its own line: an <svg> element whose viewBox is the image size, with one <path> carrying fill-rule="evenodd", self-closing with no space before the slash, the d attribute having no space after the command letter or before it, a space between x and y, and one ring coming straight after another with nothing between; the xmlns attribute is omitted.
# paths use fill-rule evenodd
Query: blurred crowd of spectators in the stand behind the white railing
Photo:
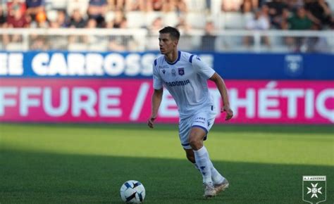
<svg viewBox="0 0 334 204"><path fill-rule="evenodd" d="M202 50L215 49L215 32L219 30L334 29L334 0L0 0L0 3L2 29L144 28L157 34L161 27L171 25L185 34L204 30ZM108 49L131 51L136 44L133 39L112 37ZM3 35L1 43L20 40L19 35ZM87 37L67 40L70 43L89 41ZM302 40L285 38L284 42L297 44L298 50ZM42 37L32 36L30 49L50 49L44 47L47 44L43 41ZM251 46L252 41L252 37L242 38L245 46ZM262 37L261 42L271 46L268 37ZM148 50L154 48L147 46ZM62 49L61 43L51 49Z"/></svg>

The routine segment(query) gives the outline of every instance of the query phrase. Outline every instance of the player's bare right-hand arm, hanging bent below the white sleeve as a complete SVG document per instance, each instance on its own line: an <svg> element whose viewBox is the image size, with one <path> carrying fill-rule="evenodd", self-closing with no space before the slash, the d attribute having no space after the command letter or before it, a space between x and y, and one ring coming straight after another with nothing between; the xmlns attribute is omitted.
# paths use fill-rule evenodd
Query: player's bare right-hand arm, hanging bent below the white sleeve
<svg viewBox="0 0 334 204"><path fill-rule="evenodd" d="M221 112L226 112L225 120L230 120L233 117L233 111L230 108L230 101L228 101L228 89L226 88L224 80L217 74L217 72L215 72L209 79L215 82L216 87L221 94L221 99L223 100L223 108L221 108Z"/></svg>

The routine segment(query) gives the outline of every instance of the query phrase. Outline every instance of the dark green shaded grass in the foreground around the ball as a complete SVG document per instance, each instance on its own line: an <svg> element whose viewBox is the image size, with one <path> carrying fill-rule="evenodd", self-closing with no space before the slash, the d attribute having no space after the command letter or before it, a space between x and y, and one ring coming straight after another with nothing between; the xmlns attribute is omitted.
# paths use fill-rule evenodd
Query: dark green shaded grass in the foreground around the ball
<svg viewBox="0 0 334 204"><path fill-rule="evenodd" d="M204 200L201 176L186 160L0 153L0 203L121 203L120 186L130 179L144 184L145 203L304 203L302 175L334 178L333 166L214 162L230 188ZM328 183L330 203L333 189Z"/></svg>

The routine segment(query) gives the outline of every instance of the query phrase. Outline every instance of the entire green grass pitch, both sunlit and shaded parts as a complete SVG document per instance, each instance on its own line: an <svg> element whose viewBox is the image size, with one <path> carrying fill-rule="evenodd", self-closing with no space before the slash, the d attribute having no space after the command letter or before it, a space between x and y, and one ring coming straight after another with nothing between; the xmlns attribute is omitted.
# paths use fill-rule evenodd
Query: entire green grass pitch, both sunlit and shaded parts
<svg viewBox="0 0 334 204"><path fill-rule="evenodd" d="M0 124L0 203L122 203L135 179L144 203L304 203L302 176L326 175L334 202L333 126L216 125L205 142L230 181L202 197L177 125Z"/></svg>

